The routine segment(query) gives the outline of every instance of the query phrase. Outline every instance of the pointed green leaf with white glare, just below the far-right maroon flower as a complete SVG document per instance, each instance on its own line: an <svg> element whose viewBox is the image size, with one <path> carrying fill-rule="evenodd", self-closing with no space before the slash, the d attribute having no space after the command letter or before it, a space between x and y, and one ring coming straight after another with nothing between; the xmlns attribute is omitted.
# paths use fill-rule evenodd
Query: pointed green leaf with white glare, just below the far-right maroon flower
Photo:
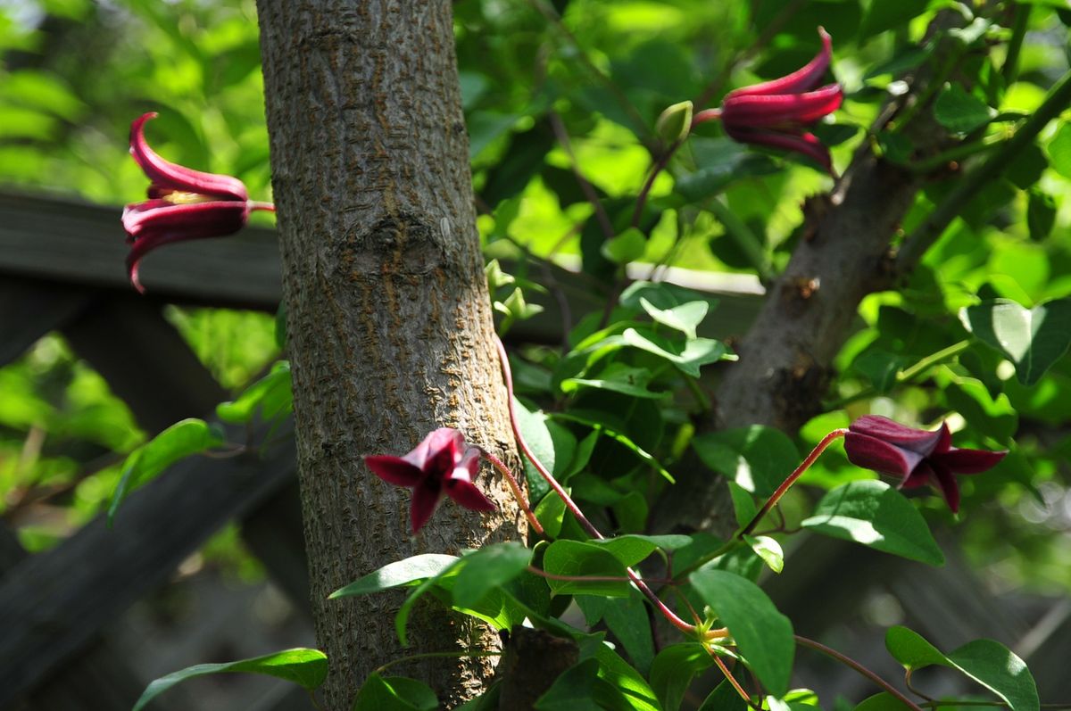
<svg viewBox="0 0 1071 711"><path fill-rule="evenodd" d="M885 482L862 480L836 487L801 526L930 565L945 563L922 514Z"/></svg>

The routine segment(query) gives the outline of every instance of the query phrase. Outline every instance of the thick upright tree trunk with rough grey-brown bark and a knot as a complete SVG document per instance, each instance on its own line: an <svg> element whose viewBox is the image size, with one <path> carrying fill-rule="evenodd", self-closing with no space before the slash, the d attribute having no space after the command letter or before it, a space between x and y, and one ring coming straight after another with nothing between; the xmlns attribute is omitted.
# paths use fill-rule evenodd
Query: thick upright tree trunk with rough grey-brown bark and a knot
<svg viewBox="0 0 1071 711"><path fill-rule="evenodd" d="M419 536L408 489L363 465L437 426L516 465L474 226L468 138L447 0L258 2L273 185L283 253L295 415L313 609L331 660L325 696L348 709L364 677L407 653L497 647L471 618L436 607L409 624L402 593L328 601L408 556L517 539L500 512L447 500ZM392 667L448 706L479 692L488 660Z"/></svg>

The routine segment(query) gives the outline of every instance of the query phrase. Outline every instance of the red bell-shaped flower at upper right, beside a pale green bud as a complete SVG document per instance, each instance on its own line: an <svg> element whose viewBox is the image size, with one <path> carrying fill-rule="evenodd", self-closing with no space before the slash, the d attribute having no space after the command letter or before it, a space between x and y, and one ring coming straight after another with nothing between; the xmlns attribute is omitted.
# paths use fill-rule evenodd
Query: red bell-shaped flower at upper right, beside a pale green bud
<svg viewBox="0 0 1071 711"><path fill-rule="evenodd" d="M818 86L832 58L829 33L819 27L818 35L821 50L805 66L780 79L730 91L721 108L696 114L693 125L721 119L733 140L802 153L835 176L829 149L808 131L840 108L844 99L841 85Z"/></svg>

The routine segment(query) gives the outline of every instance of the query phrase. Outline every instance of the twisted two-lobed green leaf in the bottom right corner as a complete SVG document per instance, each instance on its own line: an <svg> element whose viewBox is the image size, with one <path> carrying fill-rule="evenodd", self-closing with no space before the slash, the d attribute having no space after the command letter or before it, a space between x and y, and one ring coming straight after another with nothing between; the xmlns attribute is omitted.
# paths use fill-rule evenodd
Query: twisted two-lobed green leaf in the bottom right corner
<svg viewBox="0 0 1071 711"><path fill-rule="evenodd" d="M885 645L897 662L914 670L934 664L956 669L985 686L1012 711L1038 711L1038 687L1026 664L993 639L975 639L942 654L917 632L890 627Z"/></svg>

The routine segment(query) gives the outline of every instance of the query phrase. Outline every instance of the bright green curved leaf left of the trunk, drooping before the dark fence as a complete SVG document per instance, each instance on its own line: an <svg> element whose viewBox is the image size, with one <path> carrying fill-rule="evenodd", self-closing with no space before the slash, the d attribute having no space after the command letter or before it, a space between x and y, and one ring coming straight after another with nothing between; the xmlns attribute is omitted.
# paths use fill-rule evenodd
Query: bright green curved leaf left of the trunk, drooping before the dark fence
<svg viewBox="0 0 1071 711"><path fill-rule="evenodd" d="M224 442L223 430L203 420L182 420L131 452L123 463L123 475L108 506L111 526L119 505L130 491L155 479L180 459L200 454Z"/></svg>

